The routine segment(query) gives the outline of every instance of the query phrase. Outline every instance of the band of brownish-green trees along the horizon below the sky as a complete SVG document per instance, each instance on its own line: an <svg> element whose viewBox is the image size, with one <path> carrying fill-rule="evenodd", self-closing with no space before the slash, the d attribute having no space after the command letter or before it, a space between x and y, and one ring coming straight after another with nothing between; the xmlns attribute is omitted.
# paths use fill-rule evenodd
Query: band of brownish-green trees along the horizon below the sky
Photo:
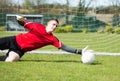
<svg viewBox="0 0 120 81"><path fill-rule="evenodd" d="M47 2L47 0L24 0L22 4L19 4L13 3L11 0L0 0L0 13L86 14L89 10L93 9L90 5L95 0L89 0L89 2L86 2L86 0L79 0L79 4L76 7L70 6L69 0L66 0L66 4L48 4L45 3L45 1ZM96 7L95 11L98 14L120 13L120 1L111 0L111 5Z"/></svg>

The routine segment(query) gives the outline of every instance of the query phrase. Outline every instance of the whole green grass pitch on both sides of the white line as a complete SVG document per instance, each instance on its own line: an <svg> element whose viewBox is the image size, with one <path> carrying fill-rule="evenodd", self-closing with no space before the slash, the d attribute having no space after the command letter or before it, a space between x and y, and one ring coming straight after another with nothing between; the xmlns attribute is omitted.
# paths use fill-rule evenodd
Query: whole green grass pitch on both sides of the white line
<svg viewBox="0 0 120 81"><path fill-rule="evenodd" d="M0 32L0 37L16 34ZM120 35L96 33L55 35L71 47L83 48L90 45L96 51L107 52L119 52L120 48L119 43L116 42L118 45L114 45L114 40L119 41ZM107 46L105 49L104 44L109 44L106 41L111 44L108 46L109 49ZM117 46L118 49L113 49L114 46ZM112 51L110 51L110 47ZM38 50L56 49L48 46ZM96 56L95 63L88 65L81 63L80 55L26 54L19 62L0 62L0 81L119 81L119 69L120 56Z"/></svg>

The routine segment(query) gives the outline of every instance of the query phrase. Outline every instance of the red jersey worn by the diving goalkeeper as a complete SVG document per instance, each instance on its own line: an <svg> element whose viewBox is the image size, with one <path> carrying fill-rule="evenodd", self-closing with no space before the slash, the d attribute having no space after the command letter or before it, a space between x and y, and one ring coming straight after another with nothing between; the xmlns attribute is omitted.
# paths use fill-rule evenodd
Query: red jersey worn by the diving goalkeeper
<svg viewBox="0 0 120 81"><path fill-rule="evenodd" d="M29 31L16 36L16 41L20 48L27 52L46 45L53 45L56 48L63 46L52 33L48 34L44 25L36 22L24 22L24 27Z"/></svg>

